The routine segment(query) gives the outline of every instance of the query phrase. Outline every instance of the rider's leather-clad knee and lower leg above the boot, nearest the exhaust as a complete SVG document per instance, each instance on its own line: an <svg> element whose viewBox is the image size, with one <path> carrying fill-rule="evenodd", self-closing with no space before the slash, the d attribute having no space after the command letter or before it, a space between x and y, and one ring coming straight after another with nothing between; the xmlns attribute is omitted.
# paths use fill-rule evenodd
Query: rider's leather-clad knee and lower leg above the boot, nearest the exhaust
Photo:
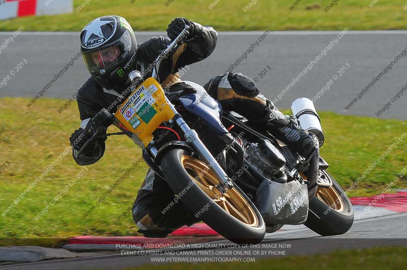
<svg viewBox="0 0 407 270"><path fill-rule="evenodd" d="M236 111L253 122L273 122L286 126L288 121L267 98L259 94L256 83L242 73L226 72L203 86L222 108Z"/></svg>

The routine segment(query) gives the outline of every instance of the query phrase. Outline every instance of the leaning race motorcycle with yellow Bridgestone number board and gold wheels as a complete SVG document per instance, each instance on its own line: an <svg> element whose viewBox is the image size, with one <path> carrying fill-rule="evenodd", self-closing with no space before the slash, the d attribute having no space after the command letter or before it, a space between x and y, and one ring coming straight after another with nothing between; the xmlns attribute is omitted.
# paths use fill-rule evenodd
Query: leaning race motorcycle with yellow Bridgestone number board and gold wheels
<svg viewBox="0 0 407 270"><path fill-rule="evenodd" d="M321 235L348 231L352 203L319 156L324 133L309 99L292 105L294 121L319 140L303 158L243 116L223 111L194 82L184 81L195 94L164 92L157 81L160 63L187 31L157 57L151 78L130 73L134 92L115 113L102 109L93 117L98 128L80 152L96 137L135 136L146 164L190 212L237 244L257 244L285 224L305 224ZM101 135L112 124L122 131Z"/></svg>

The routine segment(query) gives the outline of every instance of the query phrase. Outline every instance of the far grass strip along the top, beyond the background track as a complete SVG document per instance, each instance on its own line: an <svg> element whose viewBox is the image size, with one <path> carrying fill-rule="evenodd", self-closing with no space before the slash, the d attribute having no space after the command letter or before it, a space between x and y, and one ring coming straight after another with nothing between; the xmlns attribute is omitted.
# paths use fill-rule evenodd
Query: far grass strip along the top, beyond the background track
<svg viewBox="0 0 407 270"><path fill-rule="evenodd" d="M97 1L92 0L80 12L76 12L83 0L74 0L70 14L23 17L0 22L0 31L80 31L92 19L103 15L120 15L128 19L136 31L164 31L175 17L187 17L208 24L219 31L252 30L377 30L407 29L404 0L379 1L373 8L372 0L340 0L337 6L325 13L323 10L332 0L300 2L293 10L295 0L258 0L246 12L243 9L250 0L233 2L219 0L173 0L168 7L165 0Z"/></svg>

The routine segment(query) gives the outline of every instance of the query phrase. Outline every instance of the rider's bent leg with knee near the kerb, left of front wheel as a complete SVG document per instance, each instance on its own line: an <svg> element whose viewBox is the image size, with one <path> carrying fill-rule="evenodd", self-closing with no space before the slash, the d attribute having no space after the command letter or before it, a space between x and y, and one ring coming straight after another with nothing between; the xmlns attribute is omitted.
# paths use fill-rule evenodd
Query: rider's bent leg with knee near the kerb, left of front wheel
<svg viewBox="0 0 407 270"><path fill-rule="evenodd" d="M171 188L152 170L147 173L134 201L133 220L146 237L166 237L184 225L192 225L195 218Z"/></svg>

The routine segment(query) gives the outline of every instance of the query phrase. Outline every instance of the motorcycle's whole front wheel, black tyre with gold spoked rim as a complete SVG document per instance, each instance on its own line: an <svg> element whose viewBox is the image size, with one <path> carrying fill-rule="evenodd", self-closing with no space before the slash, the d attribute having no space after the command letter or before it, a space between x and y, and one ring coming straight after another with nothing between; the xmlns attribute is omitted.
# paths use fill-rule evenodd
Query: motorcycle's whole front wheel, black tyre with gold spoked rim
<svg viewBox="0 0 407 270"><path fill-rule="evenodd" d="M222 194L219 180L202 161L184 149L171 149L161 160L164 177L190 211L219 234L237 244L257 244L266 227L250 199L235 184ZM184 192L183 192L184 191Z"/></svg>

